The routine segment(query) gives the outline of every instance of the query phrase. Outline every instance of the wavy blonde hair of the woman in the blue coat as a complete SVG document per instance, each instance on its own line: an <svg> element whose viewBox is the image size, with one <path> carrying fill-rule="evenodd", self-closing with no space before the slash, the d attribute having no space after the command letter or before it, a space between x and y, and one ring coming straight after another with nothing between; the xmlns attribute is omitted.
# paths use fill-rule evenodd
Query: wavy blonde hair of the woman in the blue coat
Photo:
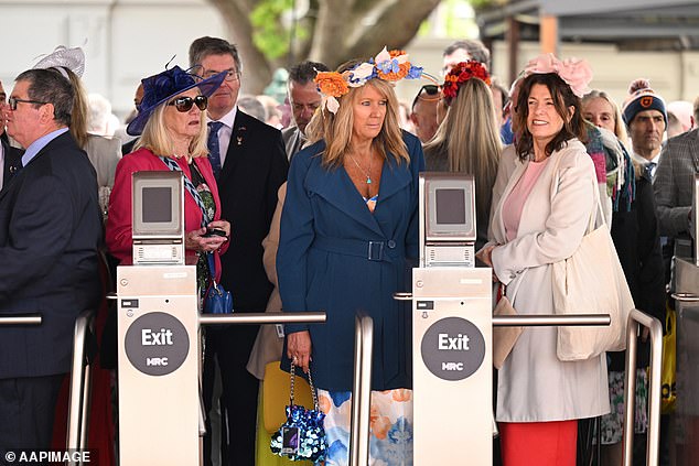
<svg viewBox="0 0 699 466"><path fill-rule="evenodd" d="M326 147L321 153L324 166L341 165L345 154L352 150L354 104L366 86L372 86L386 99L386 118L380 132L372 141L372 147L384 160L388 159L388 153L390 153L397 162L410 161L408 148L402 141L402 130L398 117L399 105L392 85L375 78L362 87L351 87L347 94L338 98L340 109L336 113L332 113L327 109L319 109L313 115L305 131L311 144L325 140Z"/></svg>

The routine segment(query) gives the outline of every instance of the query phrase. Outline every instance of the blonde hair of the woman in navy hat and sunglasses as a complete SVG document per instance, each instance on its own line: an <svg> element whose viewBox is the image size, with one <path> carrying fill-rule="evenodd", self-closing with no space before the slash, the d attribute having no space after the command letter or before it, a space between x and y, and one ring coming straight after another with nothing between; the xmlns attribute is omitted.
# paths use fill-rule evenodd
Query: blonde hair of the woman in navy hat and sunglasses
<svg viewBox="0 0 699 466"><path fill-rule="evenodd" d="M172 100L178 96L173 96L168 99ZM133 147L133 150L146 148L160 156L174 155L174 144L172 138L165 127L165 109L168 108L168 101L162 102L151 112L143 127L143 133ZM173 107L174 108L174 107ZM190 141L190 154L195 156L206 156L208 149L206 147L206 111L200 113L200 131ZM180 154L178 154L180 155Z"/></svg>

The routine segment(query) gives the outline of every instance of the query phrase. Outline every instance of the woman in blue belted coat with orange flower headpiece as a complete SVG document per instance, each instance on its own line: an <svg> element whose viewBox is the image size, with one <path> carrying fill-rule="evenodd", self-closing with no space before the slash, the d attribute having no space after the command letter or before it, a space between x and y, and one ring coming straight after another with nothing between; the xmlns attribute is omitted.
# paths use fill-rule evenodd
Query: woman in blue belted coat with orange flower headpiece
<svg viewBox="0 0 699 466"><path fill-rule="evenodd" d="M326 413L326 464L346 464L354 318L374 318L373 458L412 464L408 259L418 249L420 141L398 126L389 82L418 77L407 55L384 50L369 63L319 73L323 105L311 145L289 171L277 272L284 311L325 311L320 325L287 325L287 356L308 371ZM350 86L347 86L350 85ZM312 361L312 364L311 364Z"/></svg>

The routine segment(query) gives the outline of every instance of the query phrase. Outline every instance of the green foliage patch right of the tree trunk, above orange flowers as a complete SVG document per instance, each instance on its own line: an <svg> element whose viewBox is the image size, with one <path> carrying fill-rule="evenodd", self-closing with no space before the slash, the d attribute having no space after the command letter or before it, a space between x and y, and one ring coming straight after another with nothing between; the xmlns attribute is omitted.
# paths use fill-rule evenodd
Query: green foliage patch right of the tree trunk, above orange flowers
<svg viewBox="0 0 699 466"><path fill-rule="evenodd" d="M289 31L281 24L280 19L292 4L293 0L264 0L250 14L252 42L270 59L279 58L289 52Z"/></svg>

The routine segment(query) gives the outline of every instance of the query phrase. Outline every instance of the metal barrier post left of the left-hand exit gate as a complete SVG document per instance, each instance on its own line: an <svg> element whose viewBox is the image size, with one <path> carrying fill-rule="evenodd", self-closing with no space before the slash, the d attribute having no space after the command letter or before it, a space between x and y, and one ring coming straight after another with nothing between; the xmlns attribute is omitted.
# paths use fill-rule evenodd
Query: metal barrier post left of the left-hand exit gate
<svg viewBox="0 0 699 466"><path fill-rule="evenodd" d="M83 311L75 321L73 336L73 360L71 367L71 389L68 394L68 426L66 448L87 448L87 425L89 423L90 368L85 355L85 343L92 333L93 311ZM71 462L71 465L75 463Z"/></svg>

